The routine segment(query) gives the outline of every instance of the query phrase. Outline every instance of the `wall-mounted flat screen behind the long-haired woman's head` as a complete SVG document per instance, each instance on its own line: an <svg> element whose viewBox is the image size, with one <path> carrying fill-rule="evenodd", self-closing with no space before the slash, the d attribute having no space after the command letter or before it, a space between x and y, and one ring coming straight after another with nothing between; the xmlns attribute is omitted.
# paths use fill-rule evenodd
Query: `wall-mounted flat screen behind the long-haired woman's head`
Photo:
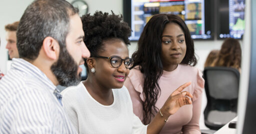
<svg viewBox="0 0 256 134"><path fill-rule="evenodd" d="M130 40L138 40L147 21L158 13L179 15L193 39L213 39L212 0L123 0L124 21L132 29Z"/></svg>

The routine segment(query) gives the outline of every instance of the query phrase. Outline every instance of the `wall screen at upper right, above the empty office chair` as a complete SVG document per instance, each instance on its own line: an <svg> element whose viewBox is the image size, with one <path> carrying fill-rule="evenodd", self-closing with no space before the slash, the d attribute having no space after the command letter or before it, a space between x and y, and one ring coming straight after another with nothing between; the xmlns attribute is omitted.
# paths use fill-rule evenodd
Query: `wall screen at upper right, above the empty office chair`
<svg viewBox="0 0 256 134"><path fill-rule="evenodd" d="M244 0L217 0L217 39L241 39L244 33Z"/></svg>

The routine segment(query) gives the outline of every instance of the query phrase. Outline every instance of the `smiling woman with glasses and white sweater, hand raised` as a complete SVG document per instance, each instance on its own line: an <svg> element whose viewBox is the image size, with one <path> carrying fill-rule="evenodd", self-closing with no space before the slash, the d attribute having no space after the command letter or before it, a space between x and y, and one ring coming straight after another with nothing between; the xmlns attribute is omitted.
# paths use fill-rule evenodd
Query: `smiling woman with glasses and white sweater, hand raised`
<svg viewBox="0 0 256 134"><path fill-rule="evenodd" d="M63 107L79 133L158 133L167 114L191 103L189 92L180 93L189 85L185 83L166 100L164 115L159 112L149 125L143 125L133 113L128 90L123 86L134 63L128 57L129 26L113 12L96 11L81 19L84 42L91 54L84 63L88 77L61 92Z"/></svg>

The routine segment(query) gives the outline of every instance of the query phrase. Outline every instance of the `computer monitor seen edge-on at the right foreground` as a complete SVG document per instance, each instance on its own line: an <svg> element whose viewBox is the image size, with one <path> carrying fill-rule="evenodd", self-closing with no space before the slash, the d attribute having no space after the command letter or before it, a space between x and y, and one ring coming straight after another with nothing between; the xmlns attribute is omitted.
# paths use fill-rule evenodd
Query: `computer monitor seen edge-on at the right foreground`
<svg viewBox="0 0 256 134"><path fill-rule="evenodd" d="M245 0L245 30L238 96L237 133L255 133L256 120L256 0Z"/></svg>

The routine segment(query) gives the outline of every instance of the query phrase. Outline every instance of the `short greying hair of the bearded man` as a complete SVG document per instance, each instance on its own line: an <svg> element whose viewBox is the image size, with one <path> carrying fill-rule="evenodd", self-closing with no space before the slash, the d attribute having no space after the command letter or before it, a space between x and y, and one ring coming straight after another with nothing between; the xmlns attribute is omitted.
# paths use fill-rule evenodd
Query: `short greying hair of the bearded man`
<svg viewBox="0 0 256 134"><path fill-rule="evenodd" d="M78 12L65 0L35 0L25 9L16 32L20 58L34 60L43 39L51 36L65 49L69 17Z"/></svg>

